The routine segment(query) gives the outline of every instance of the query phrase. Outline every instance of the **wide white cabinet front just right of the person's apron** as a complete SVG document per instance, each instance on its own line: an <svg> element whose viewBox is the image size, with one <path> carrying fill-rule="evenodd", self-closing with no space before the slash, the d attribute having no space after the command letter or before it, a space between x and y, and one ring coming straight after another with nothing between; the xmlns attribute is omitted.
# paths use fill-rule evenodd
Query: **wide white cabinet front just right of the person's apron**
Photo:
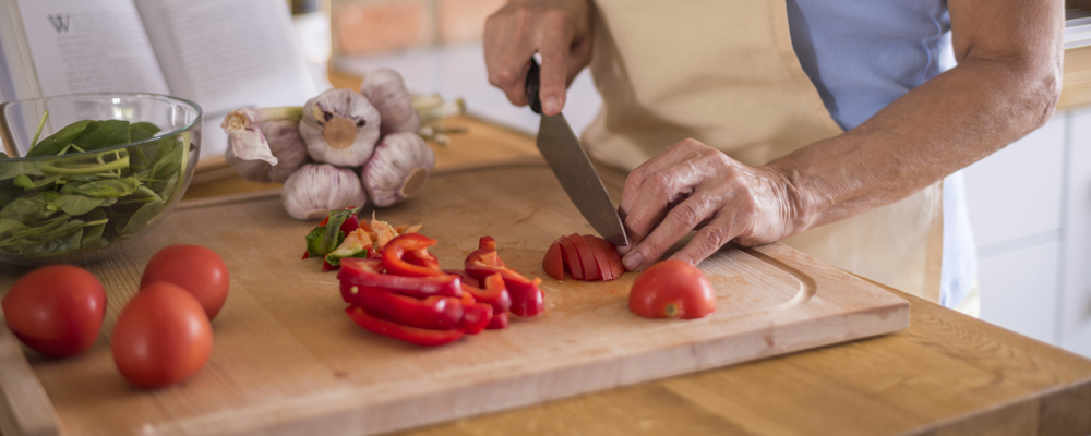
<svg viewBox="0 0 1091 436"><path fill-rule="evenodd" d="M967 167L981 318L1057 343L1067 114Z"/></svg>

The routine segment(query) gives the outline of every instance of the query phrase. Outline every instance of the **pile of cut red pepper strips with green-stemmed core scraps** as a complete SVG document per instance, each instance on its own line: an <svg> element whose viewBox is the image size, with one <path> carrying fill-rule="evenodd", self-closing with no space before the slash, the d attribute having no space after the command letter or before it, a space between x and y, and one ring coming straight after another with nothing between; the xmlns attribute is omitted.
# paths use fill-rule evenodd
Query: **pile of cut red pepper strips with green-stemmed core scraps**
<svg viewBox="0 0 1091 436"><path fill-rule="evenodd" d="M436 243L420 226L361 221L358 208L329 213L307 235L307 253L323 270L340 268L341 298L349 317L370 331L419 346L440 346L464 335L508 326L508 313L535 316L544 310L538 284L508 268L496 241L483 237L464 262L465 270L440 269L428 252Z"/></svg>

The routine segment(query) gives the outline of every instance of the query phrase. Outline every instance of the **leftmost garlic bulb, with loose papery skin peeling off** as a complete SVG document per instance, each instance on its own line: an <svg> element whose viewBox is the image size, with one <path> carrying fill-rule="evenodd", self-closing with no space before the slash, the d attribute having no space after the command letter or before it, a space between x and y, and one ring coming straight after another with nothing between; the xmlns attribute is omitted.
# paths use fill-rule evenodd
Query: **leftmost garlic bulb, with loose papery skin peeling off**
<svg viewBox="0 0 1091 436"><path fill-rule="evenodd" d="M227 137L225 157L228 164L239 170L243 179L262 183L284 183L299 167L310 161L307 145L299 135L298 121L266 121L262 123L261 133L267 142L266 148L277 160L276 165L269 165L262 159L247 160L238 156L237 149L245 149L253 145L248 143L252 136Z"/></svg>

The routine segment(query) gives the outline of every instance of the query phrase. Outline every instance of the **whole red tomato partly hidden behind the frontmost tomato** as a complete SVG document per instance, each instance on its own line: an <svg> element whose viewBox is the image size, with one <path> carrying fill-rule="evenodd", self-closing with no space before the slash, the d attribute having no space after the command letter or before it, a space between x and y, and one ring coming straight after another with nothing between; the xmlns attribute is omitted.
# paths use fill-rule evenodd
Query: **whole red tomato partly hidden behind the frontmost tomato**
<svg viewBox="0 0 1091 436"><path fill-rule="evenodd" d="M144 268L140 287L157 281L178 284L193 294L214 319L227 301L230 277L227 265L216 252L201 245L169 245L159 250Z"/></svg>

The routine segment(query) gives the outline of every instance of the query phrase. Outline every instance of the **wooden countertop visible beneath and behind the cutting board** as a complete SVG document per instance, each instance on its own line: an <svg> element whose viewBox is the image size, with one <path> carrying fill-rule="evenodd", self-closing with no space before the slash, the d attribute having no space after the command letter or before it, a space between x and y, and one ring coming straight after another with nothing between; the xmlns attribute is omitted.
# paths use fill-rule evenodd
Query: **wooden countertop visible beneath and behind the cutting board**
<svg viewBox="0 0 1091 436"><path fill-rule="evenodd" d="M437 171L540 159L532 138L469 118ZM276 189L239 178L188 199ZM483 434L1091 434L1091 360L890 289L908 329L406 432Z"/></svg>

